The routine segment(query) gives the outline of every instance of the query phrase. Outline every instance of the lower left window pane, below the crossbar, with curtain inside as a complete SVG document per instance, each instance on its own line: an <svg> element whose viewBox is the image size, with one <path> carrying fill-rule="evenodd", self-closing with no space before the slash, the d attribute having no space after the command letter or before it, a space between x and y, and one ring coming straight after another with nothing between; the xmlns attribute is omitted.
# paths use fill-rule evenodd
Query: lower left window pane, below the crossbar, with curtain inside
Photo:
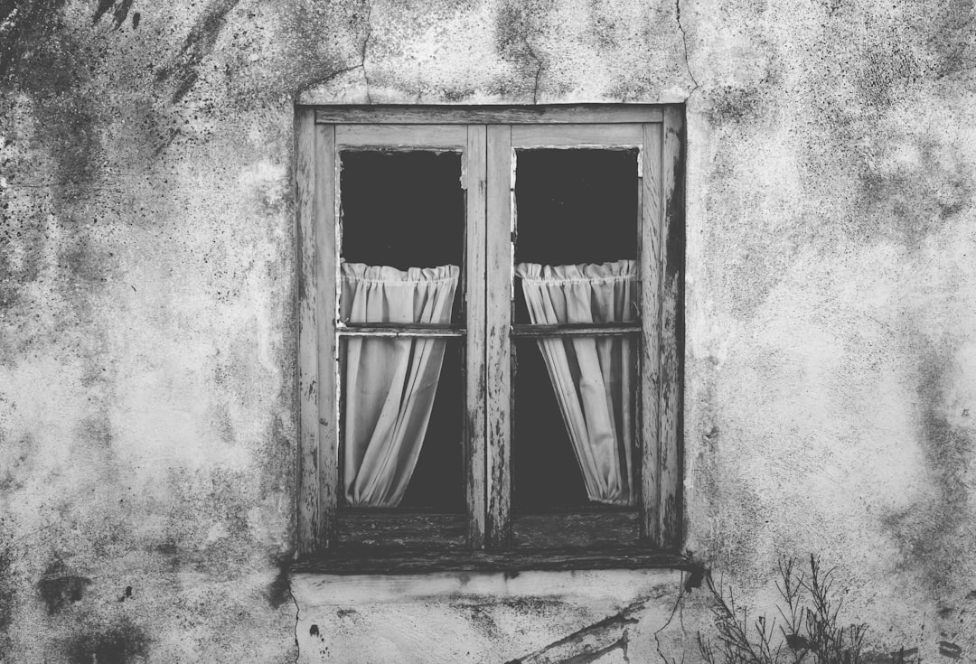
<svg viewBox="0 0 976 664"><path fill-rule="evenodd" d="M342 504L464 511L463 345L341 339Z"/></svg>

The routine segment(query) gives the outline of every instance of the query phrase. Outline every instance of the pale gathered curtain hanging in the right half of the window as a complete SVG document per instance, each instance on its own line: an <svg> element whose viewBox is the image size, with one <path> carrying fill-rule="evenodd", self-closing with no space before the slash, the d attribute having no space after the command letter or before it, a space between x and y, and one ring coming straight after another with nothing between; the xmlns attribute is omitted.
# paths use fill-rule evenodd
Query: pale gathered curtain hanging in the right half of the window
<svg viewBox="0 0 976 664"><path fill-rule="evenodd" d="M583 265L519 263L515 276L535 325L634 319L634 260ZM626 336L539 340L590 500L629 504L636 344ZM517 398L517 397L516 397Z"/></svg>

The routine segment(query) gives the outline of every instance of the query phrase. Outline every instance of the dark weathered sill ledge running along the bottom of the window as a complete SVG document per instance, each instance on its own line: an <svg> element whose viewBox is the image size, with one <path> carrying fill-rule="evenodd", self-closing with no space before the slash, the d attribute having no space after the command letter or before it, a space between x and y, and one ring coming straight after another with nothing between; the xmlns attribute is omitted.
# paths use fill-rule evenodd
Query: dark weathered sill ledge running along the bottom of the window
<svg viewBox="0 0 976 664"><path fill-rule="evenodd" d="M296 561L291 572L320 574L422 574L444 571L505 572L573 569L667 568L696 571L692 559L637 546L598 550L409 551L342 548Z"/></svg>

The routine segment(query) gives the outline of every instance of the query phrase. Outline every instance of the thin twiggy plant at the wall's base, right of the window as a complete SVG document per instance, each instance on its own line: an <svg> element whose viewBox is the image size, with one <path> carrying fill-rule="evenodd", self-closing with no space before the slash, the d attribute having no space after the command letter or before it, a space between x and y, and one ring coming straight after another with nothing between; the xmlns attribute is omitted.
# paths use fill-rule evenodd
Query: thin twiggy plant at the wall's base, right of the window
<svg viewBox="0 0 976 664"><path fill-rule="evenodd" d="M712 575L705 580L714 603L712 615L718 634L698 635L698 648L708 664L864 664L865 624L839 625L842 602L834 593L833 570L824 571L810 556L809 571L795 559L779 563L779 590L783 605L774 616L750 618L749 610L737 605L732 589L715 586ZM896 664L909 660L895 655Z"/></svg>

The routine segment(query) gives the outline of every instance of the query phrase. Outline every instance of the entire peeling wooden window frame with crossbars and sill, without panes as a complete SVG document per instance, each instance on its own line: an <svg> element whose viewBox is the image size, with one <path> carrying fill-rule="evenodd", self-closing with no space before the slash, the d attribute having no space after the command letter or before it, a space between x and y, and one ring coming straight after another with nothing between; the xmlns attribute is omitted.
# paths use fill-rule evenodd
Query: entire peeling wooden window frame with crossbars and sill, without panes
<svg viewBox="0 0 976 664"><path fill-rule="evenodd" d="M344 572L436 569L671 566L681 539L683 372L683 144L681 105L298 106L297 568ZM533 515L513 529L510 505L511 326L514 151L542 146L639 149L640 336L637 510ZM452 149L463 154L467 192L464 329L337 325L338 154L346 146ZM470 303L474 303L471 305ZM651 315L647 315L650 312ZM585 331L620 333L621 330ZM628 330L625 330L628 329ZM560 331L565 332L565 331ZM467 514L356 517L339 502L338 338L343 334L464 336ZM350 516L351 515L351 516ZM581 521L582 518L582 521ZM589 520L588 520L589 519ZM610 544L637 521L636 541ZM575 521L574 521L575 520ZM522 546L522 530L562 531L598 546ZM594 529L595 528L595 529ZM513 536L514 532L514 536ZM524 539L524 538L523 538ZM579 538L577 538L578 540ZM355 543L346 545L346 540ZM545 542L546 537L539 541ZM395 542L395 544L389 544ZM388 544L388 545L387 545ZM572 544L572 543L570 543Z"/></svg>

